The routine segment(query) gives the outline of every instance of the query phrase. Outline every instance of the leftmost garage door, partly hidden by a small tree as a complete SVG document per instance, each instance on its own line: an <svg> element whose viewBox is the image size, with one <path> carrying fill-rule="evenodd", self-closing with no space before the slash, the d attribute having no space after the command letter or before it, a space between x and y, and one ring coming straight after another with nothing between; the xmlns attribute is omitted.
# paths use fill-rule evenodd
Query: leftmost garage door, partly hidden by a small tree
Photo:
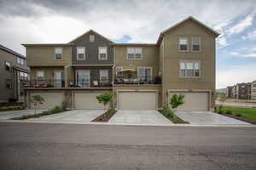
<svg viewBox="0 0 256 170"><path fill-rule="evenodd" d="M34 106L32 102L30 103L30 108L35 109L53 109L56 105L60 105L62 101L65 99L64 93L50 93L50 92L45 92L45 93L31 93L30 97L34 95L40 95L41 97L44 98L43 105L37 105Z"/></svg>

